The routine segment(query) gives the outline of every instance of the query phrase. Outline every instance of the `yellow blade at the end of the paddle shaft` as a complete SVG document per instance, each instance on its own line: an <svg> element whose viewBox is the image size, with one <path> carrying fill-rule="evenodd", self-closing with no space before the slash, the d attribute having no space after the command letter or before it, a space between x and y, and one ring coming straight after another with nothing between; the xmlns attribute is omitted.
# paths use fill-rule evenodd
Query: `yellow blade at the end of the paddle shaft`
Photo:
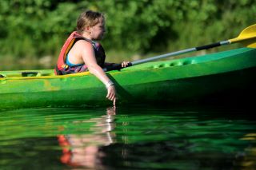
<svg viewBox="0 0 256 170"><path fill-rule="evenodd" d="M242 30L237 38L230 39L230 44L234 42L242 42L247 47L256 48L256 24Z"/></svg>

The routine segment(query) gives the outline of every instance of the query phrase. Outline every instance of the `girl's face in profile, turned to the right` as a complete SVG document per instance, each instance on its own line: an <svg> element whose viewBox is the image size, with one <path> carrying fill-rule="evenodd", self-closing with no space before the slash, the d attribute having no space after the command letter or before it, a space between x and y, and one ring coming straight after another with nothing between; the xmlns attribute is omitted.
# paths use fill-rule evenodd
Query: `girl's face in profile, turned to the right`
<svg viewBox="0 0 256 170"><path fill-rule="evenodd" d="M90 32L92 40L101 40L106 32L104 18L98 18L98 24L92 26Z"/></svg>

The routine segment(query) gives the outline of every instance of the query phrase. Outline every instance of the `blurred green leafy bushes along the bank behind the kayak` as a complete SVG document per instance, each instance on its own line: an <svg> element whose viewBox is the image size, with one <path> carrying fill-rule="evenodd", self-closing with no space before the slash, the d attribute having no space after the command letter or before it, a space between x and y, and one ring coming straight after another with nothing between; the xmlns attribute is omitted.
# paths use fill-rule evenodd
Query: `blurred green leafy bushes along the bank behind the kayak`
<svg viewBox="0 0 256 170"><path fill-rule="evenodd" d="M82 10L105 14L107 33L102 45L106 61L120 62L235 38L255 23L256 4L253 0L2 0L0 70L54 69L62 44ZM225 49L238 47L242 45Z"/></svg>

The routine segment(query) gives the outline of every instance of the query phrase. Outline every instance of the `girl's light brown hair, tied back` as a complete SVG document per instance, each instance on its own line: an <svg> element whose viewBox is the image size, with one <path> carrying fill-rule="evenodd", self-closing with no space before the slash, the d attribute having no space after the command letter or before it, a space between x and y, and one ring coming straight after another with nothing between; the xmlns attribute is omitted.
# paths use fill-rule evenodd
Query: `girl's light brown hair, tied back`
<svg viewBox="0 0 256 170"><path fill-rule="evenodd" d="M98 24L99 18L104 19L104 15L100 12L93 10L86 10L85 12L82 12L82 14L80 14L80 16L78 17L77 21L78 34L82 34L85 26L95 26L96 24Z"/></svg>

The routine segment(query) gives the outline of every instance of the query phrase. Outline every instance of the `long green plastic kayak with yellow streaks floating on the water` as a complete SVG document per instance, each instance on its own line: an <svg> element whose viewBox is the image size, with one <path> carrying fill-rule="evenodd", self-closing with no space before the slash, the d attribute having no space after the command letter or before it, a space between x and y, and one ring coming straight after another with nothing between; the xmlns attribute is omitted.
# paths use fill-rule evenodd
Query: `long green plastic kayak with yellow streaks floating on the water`
<svg viewBox="0 0 256 170"><path fill-rule="evenodd" d="M0 109L113 105L106 99L105 85L89 72L56 76L53 69L40 69L0 74ZM106 74L114 81L118 105L243 100L242 94L254 93L256 49L151 61Z"/></svg>

